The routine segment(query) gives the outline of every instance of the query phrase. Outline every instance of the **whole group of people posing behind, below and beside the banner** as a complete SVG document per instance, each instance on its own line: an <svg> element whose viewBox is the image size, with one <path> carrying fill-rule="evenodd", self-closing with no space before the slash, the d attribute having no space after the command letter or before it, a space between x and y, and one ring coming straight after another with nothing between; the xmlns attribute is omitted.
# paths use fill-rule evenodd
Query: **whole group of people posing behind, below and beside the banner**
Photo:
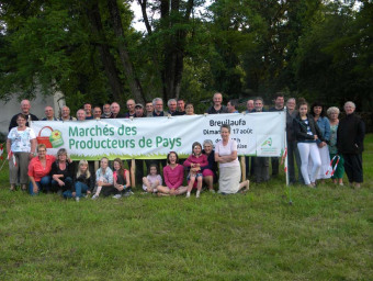
<svg viewBox="0 0 373 281"><path fill-rule="evenodd" d="M274 106L269 111L284 110L284 95L276 93ZM227 106L223 105L222 93L215 93L213 105L206 113L238 113L237 102L230 100ZM264 103L261 98L247 101L246 113L264 112ZM163 111L163 101L156 98L144 106L127 101L128 112L120 113L120 104L104 104L92 106L86 103L83 109L78 110L77 119L70 116L67 106L61 109L60 121L83 121L90 119L118 119L118 117L144 117L144 116L167 116L167 115L191 115L194 108L183 100L171 99L168 101L168 111ZM339 110L336 106L325 110L321 103L314 103L310 106L306 101L299 100L298 110L295 99L286 102L286 137L290 183L295 183L295 162L298 167L298 181L308 187L315 187L317 180L332 178L335 183L343 184L344 170L349 182L360 187L363 182L362 151L365 127L363 121L354 113L353 102L344 104L346 117L339 121ZM21 102L22 113L13 116L10 124L10 132L7 140L9 154L10 189L15 190L16 183L22 190L31 194L39 191L58 192L65 198L79 199L84 194L92 193L92 199L101 195L131 195L129 171L124 168L121 159L114 159L112 167L108 158L102 158L100 168L94 172L90 171L87 160L80 160L78 167L68 159L65 148L58 150L57 156L48 155L43 144L37 145L36 136L29 127L29 121L37 121L37 117L30 113L30 101ZM43 120L54 120L52 106L45 108ZM15 125L14 125L15 124ZM196 196L201 194L203 184L207 190L214 192L214 183L218 181L218 191L223 194L246 192L249 189L249 181L240 182L241 167L237 156L237 143L230 138L230 126L222 125L222 140L214 147L213 142L206 139L203 145L194 143L191 156L179 162L176 151L167 156L167 164L163 164L163 177L160 176L160 167L157 164L147 162L148 175L144 177L143 161L136 161L136 178L143 182L144 192L158 193L163 195L187 194L189 198L193 188L196 189ZM215 150L214 150L215 149ZM36 153L35 153L36 150ZM246 173L252 177L256 182L269 180L268 157L246 157ZM295 159L295 160L294 160ZM330 165L331 161L331 165ZM218 165L217 165L218 164ZM250 165L251 164L251 165ZM279 173L279 157L271 158L272 176ZM251 167L250 167L251 166ZM330 169L330 166L332 167ZM188 184L183 186L187 173Z"/></svg>

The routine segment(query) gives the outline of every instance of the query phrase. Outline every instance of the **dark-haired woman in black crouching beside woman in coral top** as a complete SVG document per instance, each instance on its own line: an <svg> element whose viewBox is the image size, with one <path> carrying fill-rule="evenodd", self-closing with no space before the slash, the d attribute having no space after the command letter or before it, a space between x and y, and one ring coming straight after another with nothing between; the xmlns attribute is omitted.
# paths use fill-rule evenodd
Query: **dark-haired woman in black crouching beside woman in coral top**
<svg viewBox="0 0 373 281"><path fill-rule="evenodd" d="M57 160L52 165L52 191L63 194L71 190L74 182L74 164L68 161L67 151L60 148L57 151Z"/></svg>

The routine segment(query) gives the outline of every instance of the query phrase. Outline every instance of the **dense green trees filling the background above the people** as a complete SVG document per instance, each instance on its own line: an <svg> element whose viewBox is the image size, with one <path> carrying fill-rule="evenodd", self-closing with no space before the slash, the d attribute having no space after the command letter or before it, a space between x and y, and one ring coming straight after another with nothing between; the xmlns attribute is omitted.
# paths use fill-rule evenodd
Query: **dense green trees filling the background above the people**
<svg viewBox="0 0 373 281"><path fill-rule="evenodd" d="M131 26L131 3L145 32ZM204 9L201 9L204 7ZM67 104L183 98L206 106L273 92L370 110L372 1L3 0L0 99Z"/></svg>

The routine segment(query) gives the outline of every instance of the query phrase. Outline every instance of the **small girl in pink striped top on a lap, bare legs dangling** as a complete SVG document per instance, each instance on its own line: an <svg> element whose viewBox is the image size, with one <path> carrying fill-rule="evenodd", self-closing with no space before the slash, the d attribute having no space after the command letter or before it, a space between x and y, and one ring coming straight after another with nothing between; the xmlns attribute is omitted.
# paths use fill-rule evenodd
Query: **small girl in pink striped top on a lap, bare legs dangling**
<svg viewBox="0 0 373 281"><path fill-rule="evenodd" d="M190 172L188 175L188 191L187 198L191 196L191 191L193 189L195 179L196 179L196 198L200 198L201 189L202 189L202 169L208 166L206 155L202 154L202 145L199 142L193 143L192 145L192 155L188 157L184 161L185 167L190 167Z"/></svg>

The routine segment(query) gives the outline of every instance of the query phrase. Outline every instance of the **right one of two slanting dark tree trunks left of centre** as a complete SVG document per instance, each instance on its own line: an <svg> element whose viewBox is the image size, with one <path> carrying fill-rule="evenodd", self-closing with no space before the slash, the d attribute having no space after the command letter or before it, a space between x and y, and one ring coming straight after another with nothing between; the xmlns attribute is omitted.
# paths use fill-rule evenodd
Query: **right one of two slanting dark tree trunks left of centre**
<svg viewBox="0 0 373 281"><path fill-rule="evenodd" d="M122 19L120 14L120 9L117 7L116 0L108 0L108 8L110 12L110 20L112 21L114 33L118 38L117 50L120 53L120 58L124 67L124 71L129 85L129 90L136 102L145 102L142 85L136 78L134 66L129 59L127 46L124 42L124 32L122 25Z"/></svg>

